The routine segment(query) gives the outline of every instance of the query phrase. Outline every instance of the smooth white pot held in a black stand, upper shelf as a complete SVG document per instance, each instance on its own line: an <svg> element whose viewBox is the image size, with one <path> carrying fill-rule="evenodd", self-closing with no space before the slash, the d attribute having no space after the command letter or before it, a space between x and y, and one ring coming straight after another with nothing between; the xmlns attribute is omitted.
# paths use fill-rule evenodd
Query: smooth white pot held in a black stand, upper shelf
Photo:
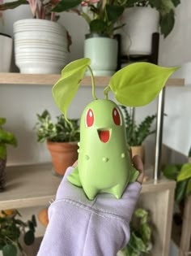
<svg viewBox="0 0 191 256"><path fill-rule="evenodd" d="M151 7L127 8L122 15L121 54L151 54L152 33L159 32L159 12Z"/></svg>

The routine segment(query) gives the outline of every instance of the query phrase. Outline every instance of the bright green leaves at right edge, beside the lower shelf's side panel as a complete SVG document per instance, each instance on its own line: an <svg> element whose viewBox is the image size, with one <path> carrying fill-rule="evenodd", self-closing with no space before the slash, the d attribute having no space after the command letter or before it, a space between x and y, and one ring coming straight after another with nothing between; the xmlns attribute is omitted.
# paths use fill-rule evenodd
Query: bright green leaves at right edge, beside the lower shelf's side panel
<svg viewBox="0 0 191 256"><path fill-rule="evenodd" d="M163 175L169 180L176 180L175 201L183 202L191 194L191 163L168 164Z"/></svg>

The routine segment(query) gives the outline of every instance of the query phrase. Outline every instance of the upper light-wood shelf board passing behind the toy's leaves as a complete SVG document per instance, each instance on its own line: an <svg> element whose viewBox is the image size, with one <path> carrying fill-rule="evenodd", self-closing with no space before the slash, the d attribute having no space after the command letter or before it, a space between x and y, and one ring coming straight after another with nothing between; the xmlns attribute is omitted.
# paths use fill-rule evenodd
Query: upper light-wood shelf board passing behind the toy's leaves
<svg viewBox="0 0 191 256"><path fill-rule="evenodd" d="M20 73L0 73L0 84L2 85L54 85L60 78L60 75L55 74L20 74ZM96 86L108 85L109 76L95 76ZM91 85L91 77L83 78L83 86ZM182 78L168 79L167 86L183 86L185 80Z"/></svg>

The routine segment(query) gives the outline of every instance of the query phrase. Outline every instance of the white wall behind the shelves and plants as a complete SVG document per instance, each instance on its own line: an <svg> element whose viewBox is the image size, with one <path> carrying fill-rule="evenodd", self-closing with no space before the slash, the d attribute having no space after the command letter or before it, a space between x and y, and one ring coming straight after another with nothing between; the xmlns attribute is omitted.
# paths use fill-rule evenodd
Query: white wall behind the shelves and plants
<svg viewBox="0 0 191 256"><path fill-rule="evenodd" d="M191 2L182 0L177 10L176 26L171 35L160 41L159 63L164 66L174 66L191 59L189 45L191 33ZM4 32L12 34L12 24L30 16L28 7L19 7L13 11L6 11L4 15ZM70 60L83 57L83 38L87 33L84 20L75 14L62 14L59 21L69 30L73 45L71 46ZM188 23L188 24L187 24ZM2 24L0 25L2 29ZM1 76L1 75L0 75ZM165 112L168 117L164 119L164 141L187 153L191 145L189 135L191 121L189 120L191 90L167 89ZM100 98L103 89L97 89ZM70 117L79 117L87 102L91 101L91 88L81 88L74 103L70 107ZM146 115L155 114L157 101L150 105L138 108L136 117L141 120ZM7 118L6 128L15 133L18 138L18 148L8 148L8 163L36 163L50 161L49 152L45 145L36 142L36 133L32 128L36 123L36 113L48 109L53 116L60 111L53 102L51 86L40 85L0 85L0 116ZM182 115L184 113L184 115ZM150 153L153 156L155 137L148 139L152 145Z"/></svg>

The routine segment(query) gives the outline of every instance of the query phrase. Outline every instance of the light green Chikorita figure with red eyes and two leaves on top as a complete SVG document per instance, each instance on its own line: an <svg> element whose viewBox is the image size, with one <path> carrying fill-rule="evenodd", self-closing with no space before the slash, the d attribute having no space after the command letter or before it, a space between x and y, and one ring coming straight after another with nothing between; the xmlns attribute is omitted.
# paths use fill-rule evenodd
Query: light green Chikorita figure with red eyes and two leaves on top
<svg viewBox="0 0 191 256"><path fill-rule="evenodd" d="M81 117L78 166L68 180L82 187L90 200L97 193L112 193L121 198L127 184L137 179L138 171L131 164L123 115L117 104L108 100L108 92L112 91L117 102L125 106L144 106L159 94L168 77L179 67L130 64L111 77L104 89L105 98L97 99L90 64L90 59L68 64L62 70L62 78L53 86L53 98L66 117L87 68L91 73L94 101L85 107Z"/></svg>

